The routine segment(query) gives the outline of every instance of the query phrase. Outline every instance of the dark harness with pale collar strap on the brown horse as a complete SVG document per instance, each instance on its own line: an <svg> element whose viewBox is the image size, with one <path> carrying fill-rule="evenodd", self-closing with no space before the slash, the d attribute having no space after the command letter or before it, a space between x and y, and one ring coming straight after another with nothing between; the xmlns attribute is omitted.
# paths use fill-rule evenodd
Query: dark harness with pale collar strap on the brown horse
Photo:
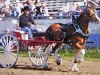
<svg viewBox="0 0 100 75"><path fill-rule="evenodd" d="M86 13L86 10L83 12L83 13ZM87 15L86 15L87 16ZM93 15L92 15L93 16ZM59 24L59 25L63 25L63 27L60 27L59 29L58 29L58 32L61 32L61 30L63 31L63 33L62 33L62 37L61 37L61 39L60 40L62 40L62 41L64 41L64 40L67 40L67 39L69 39L69 38L71 38L72 36L74 36L74 35L76 35L76 34L79 34L82 38L84 38L84 39L87 39L88 37L89 37L89 34L85 34L83 31L82 31L82 27L81 27L81 25L80 25L80 23L79 22L77 22L77 20L75 20L75 21L73 21L72 23L68 23L68 24ZM69 29L69 26L70 25L72 25L73 27L74 27L74 29L75 29L75 31L71 34L71 35L67 35L67 32L66 32L66 30L67 29ZM52 34L52 28L51 27L49 27L48 29L47 29L47 34L49 34L49 35L47 35L48 36L48 38L50 39L50 40L55 40L55 38L54 38L54 35Z"/></svg>

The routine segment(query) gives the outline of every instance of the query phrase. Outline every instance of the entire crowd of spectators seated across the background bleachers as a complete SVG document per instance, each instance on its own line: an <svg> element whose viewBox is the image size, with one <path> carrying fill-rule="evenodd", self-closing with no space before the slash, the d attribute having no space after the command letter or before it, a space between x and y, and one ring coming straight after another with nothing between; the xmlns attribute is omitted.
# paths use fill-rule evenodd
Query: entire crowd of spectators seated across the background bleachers
<svg viewBox="0 0 100 75"><path fill-rule="evenodd" d="M44 0L27 0L26 2L20 3L15 2L13 4L8 3L7 0L0 0L0 16L1 17L19 17L23 12L22 9L25 6L29 6L30 13L34 17L46 17L50 16L48 8L45 5ZM84 10L83 6L73 2L72 6L65 3L61 9L58 10L57 16L71 15L72 13L79 15ZM98 11L100 14L100 11Z"/></svg>

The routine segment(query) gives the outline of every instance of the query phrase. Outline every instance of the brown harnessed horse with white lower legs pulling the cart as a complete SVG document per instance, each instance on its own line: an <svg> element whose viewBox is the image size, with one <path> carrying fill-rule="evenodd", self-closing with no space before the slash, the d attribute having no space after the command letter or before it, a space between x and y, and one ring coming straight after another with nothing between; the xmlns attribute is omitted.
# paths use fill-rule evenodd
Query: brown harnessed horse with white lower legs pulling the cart
<svg viewBox="0 0 100 75"><path fill-rule="evenodd" d="M89 33L88 25L90 21L99 23L100 19L97 17L93 9L87 7L77 19L77 25L54 23L46 30L47 38L49 40L60 40L76 49L72 71L78 71L77 63L82 62L84 59L84 43L86 41L86 36ZM59 61L61 58L58 55L58 48L60 46L62 46L62 43L57 43L53 48L57 63L61 62Z"/></svg>

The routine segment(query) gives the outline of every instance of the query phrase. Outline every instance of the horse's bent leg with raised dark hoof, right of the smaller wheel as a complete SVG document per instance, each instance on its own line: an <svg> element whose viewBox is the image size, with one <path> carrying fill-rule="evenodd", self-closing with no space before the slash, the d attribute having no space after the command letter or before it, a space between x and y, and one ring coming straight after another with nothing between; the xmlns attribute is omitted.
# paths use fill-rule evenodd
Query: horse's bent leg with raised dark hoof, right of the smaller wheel
<svg viewBox="0 0 100 75"><path fill-rule="evenodd" d="M62 62L61 57L58 54L59 47L61 47L61 46L62 46L62 43L59 43L59 44L56 44L56 46L53 48L53 51L55 52L55 61L56 61L57 65L60 65Z"/></svg>

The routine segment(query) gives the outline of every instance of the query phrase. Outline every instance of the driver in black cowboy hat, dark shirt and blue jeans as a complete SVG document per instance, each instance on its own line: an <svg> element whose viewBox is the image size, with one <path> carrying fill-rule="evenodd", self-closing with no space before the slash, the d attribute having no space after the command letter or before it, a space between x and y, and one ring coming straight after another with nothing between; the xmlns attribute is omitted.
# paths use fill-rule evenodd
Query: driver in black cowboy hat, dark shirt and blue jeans
<svg viewBox="0 0 100 75"><path fill-rule="evenodd" d="M25 6L23 9L22 9L22 15L20 16L19 18L19 27L21 27L21 30L22 31L25 31L28 33L28 37L29 39L32 39L33 36L32 36L32 32L37 32L36 29L32 29L31 28L31 25L35 25L36 26L36 23L34 22L34 20L32 19L32 15L30 14L30 9L28 6Z"/></svg>

